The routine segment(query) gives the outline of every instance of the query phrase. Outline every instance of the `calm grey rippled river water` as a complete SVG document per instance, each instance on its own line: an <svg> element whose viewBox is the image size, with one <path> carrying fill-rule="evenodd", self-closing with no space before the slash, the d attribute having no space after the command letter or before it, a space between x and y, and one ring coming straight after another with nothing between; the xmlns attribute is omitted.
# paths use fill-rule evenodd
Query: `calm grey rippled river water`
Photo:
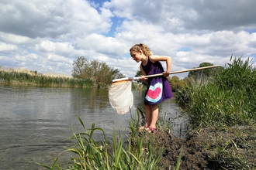
<svg viewBox="0 0 256 170"><path fill-rule="evenodd" d="M35 162L53 165L64 147L74 145L67 138L72 128L81 129L77 117L86 128L92 123L103 128L109 138L113 129L119 134L129 133L130 117L137 107L144 109L143 96L143 91L133 91L131 113L119 115L112 110L105 89L0 85L0 169L43 169ZM173 119L173 134L183 134L187 123L185 117L180 117L175 98L164 101L159 108L160 117L167 114ZM101 134L96 133L95 141L97 138L100 140ZM69 158L64 155L58 162L65 164Z"/></svg>

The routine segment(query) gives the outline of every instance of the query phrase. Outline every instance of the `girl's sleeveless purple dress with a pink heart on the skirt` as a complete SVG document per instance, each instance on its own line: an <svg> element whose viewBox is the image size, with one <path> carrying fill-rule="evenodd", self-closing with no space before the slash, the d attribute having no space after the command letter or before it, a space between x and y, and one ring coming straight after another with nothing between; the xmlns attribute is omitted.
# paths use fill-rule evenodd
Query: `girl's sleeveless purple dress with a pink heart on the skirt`
<svg viewBox="0 0 256 170"><path fill-rule="evenodd" d="M161 63L159 61L152 63L149 57L147 57L147 65L144 66L141 63L141 66L147 75L164 72L164 68ZM148 77L147 83L148 85L145 93L144 104L159 104L172 97L171 86L165 76Z"/></svg>

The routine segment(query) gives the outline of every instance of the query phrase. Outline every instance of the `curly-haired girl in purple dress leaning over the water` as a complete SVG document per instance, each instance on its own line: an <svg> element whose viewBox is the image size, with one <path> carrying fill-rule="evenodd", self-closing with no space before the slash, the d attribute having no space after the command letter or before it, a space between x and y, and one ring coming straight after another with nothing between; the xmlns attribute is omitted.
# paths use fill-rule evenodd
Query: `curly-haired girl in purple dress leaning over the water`
<svg viewBox="0 0 256 170"><path fill-rule="evenodd" d="M146 111L146 123L144 127L148 132L157 131L158 106L162 101L172 97L171 86L166 76L169 76L171 71L171 57L170 56L154 56L150 49L140 43L130 48L130 56L140 64L140 70L143 73L141 80L146 80L147 90L145 93L144 104ZM160 61L166 62L166 71ZM163 76L154 76L145 78L146 75L163 73Z"/></svg>

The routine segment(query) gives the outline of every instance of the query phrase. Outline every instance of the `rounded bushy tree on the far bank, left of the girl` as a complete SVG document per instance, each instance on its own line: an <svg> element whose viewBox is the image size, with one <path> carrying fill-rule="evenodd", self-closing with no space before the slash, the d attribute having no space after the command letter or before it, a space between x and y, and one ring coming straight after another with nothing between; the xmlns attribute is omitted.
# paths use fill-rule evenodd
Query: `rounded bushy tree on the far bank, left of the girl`
<svg viewBox="0 0 256 170"><path fill-rule="evenodd" d="M104 62L94 59L89 62L84 56L78 56L73 63L72 76L74 78L92 79L96 84L109 84L113 79L122 78L124 75L117 69L109 67Z"/></svg>

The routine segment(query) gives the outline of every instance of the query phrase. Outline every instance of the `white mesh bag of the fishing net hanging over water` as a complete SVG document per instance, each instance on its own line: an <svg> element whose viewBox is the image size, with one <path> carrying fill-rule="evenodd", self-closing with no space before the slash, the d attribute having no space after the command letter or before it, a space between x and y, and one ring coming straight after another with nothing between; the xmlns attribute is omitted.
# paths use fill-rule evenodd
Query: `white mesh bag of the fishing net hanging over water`
<svg viewBox="0 0 256 170"><path fill-rule="evenodd" d="M109 103L117 114L126 114L133 106L132 82L113 83L109 87Z"/></svg>

